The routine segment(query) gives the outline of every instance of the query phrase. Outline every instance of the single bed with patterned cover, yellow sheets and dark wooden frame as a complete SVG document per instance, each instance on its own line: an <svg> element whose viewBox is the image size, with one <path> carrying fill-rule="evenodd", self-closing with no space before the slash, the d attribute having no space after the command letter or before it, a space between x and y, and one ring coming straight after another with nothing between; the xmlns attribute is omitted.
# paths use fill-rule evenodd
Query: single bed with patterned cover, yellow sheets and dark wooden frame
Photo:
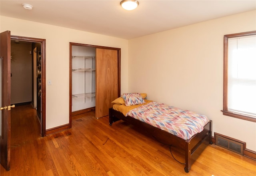
<svg viewBox="0 0 256 176"><path fill-rule="evenodd" d="M206 148L208 144L212 144L212 121L208 120L208 118L202 114L182 110L144 98L146 98L146 94L128 93L122 94L121 97L114 100L112 102L114 103L113 108L109 109L110 126L118 120L123 120L136 128L144 130L147 134L154 136L154 138L157 138L165 144L181 148L185 152L184 170L188 173L192 164L202 153L204 148ZM167 112L171 112L165 113L165 109L168 109ZM159 114L160 118L158 118ZM163 118L163 116L165 116L165 118ZM204 122L200 122L201 127L195 127L194 122L190 122L190 118L192 119L195 116L196 118L203 118L201 121ZM172 120L175 121L177 117L182 118L182 120L172 122ZM185 123L188 126L182 124L184 119L188 119L188 123ZM178 124L179 122L180 124ZM170 124L172 125L171 127ZM169 127L166 128L166 126ZM178 126L178 130L175 126ZM183 127L185 129L183 129ZM195 130L195 128L200 128L199 132L197 132L198 129Z"/></svg>

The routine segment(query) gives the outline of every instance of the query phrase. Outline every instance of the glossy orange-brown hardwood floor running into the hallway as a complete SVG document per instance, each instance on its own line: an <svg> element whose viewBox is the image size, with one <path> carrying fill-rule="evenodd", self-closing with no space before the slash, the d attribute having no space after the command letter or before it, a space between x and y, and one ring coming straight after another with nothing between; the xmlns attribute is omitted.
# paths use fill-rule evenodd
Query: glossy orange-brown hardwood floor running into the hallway
<svg viewBox="0 0 256 176"><path fill-rule="evenodd" d="M73 117L72 128L40 137L31 105L12 109L11 169L1 176L255 176L256 161L209 145L189 173L169 146L125 122L109 126L94 112ZM182 151L172 154L184 162Z"/></svg>

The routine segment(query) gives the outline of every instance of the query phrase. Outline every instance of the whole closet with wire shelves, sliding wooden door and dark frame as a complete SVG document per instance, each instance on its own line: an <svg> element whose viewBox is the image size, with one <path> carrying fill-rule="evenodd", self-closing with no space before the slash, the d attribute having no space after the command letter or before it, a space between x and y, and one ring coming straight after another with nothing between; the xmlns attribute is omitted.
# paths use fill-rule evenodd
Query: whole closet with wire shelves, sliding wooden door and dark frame
<svg viewBox="0 0 256 176"><path fill-rule="evenodd" d="M72 116L95 111L108 116L120 96L120 48L70 42L70 128Z"/></svg>

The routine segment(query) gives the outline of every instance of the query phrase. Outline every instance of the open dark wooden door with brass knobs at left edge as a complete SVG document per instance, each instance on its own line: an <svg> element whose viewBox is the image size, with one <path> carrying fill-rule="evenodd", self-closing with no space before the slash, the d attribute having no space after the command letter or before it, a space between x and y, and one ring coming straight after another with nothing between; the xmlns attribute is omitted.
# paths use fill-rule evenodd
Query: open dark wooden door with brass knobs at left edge
<svg viewBox="0 0 256 176"><path fill-rule="evenodd" d="M10 170L10 134L11 111L11 32L2 32L0 36L1 58L1 133L0 133L0 160L6 170Z"/></svg>

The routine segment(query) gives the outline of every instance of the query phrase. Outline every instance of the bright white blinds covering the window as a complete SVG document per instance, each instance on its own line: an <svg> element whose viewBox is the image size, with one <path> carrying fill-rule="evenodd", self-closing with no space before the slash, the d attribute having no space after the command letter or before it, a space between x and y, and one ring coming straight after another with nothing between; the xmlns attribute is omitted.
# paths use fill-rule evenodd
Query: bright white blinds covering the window
<svg viewBox="0 0 256 176"><path fill-rule="evenodd" d="M228 111L256 118L256 35L228 38Z"/></svg>

